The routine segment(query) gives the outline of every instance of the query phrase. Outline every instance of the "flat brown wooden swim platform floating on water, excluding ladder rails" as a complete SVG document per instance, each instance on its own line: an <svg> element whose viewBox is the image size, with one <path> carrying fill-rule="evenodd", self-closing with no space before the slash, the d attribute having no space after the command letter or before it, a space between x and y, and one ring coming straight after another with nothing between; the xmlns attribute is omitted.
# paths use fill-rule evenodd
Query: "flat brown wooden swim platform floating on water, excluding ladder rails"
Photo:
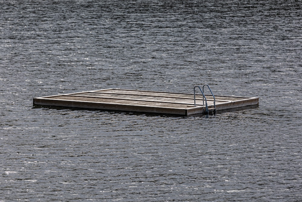
<svg viewBox="0 0 302 202"><path fill-rule="evenodd" d="M207 100L207 106L204 101ZM128 89L104 89L33 98L36 105L161 114L204 114L211 110L258 105L259 98L172 93ZM195 102L195 104L194 104ZM207 110L208 109L208 110Z"/></svg>

